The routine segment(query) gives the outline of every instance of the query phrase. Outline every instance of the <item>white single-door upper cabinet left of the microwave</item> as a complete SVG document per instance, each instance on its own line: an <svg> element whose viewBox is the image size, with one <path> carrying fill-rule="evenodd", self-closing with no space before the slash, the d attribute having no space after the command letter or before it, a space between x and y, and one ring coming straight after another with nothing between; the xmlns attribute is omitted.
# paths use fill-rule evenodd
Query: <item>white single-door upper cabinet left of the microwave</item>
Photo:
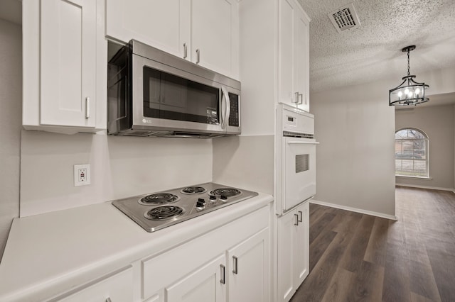
<svg viewBox="0 0 455 302"><path fill-rule="evenodd" d="M97 91L102 86L97 1L23 0L22 5L24 128L61 133L105 128L96 105L104 93Z"/></svg>

